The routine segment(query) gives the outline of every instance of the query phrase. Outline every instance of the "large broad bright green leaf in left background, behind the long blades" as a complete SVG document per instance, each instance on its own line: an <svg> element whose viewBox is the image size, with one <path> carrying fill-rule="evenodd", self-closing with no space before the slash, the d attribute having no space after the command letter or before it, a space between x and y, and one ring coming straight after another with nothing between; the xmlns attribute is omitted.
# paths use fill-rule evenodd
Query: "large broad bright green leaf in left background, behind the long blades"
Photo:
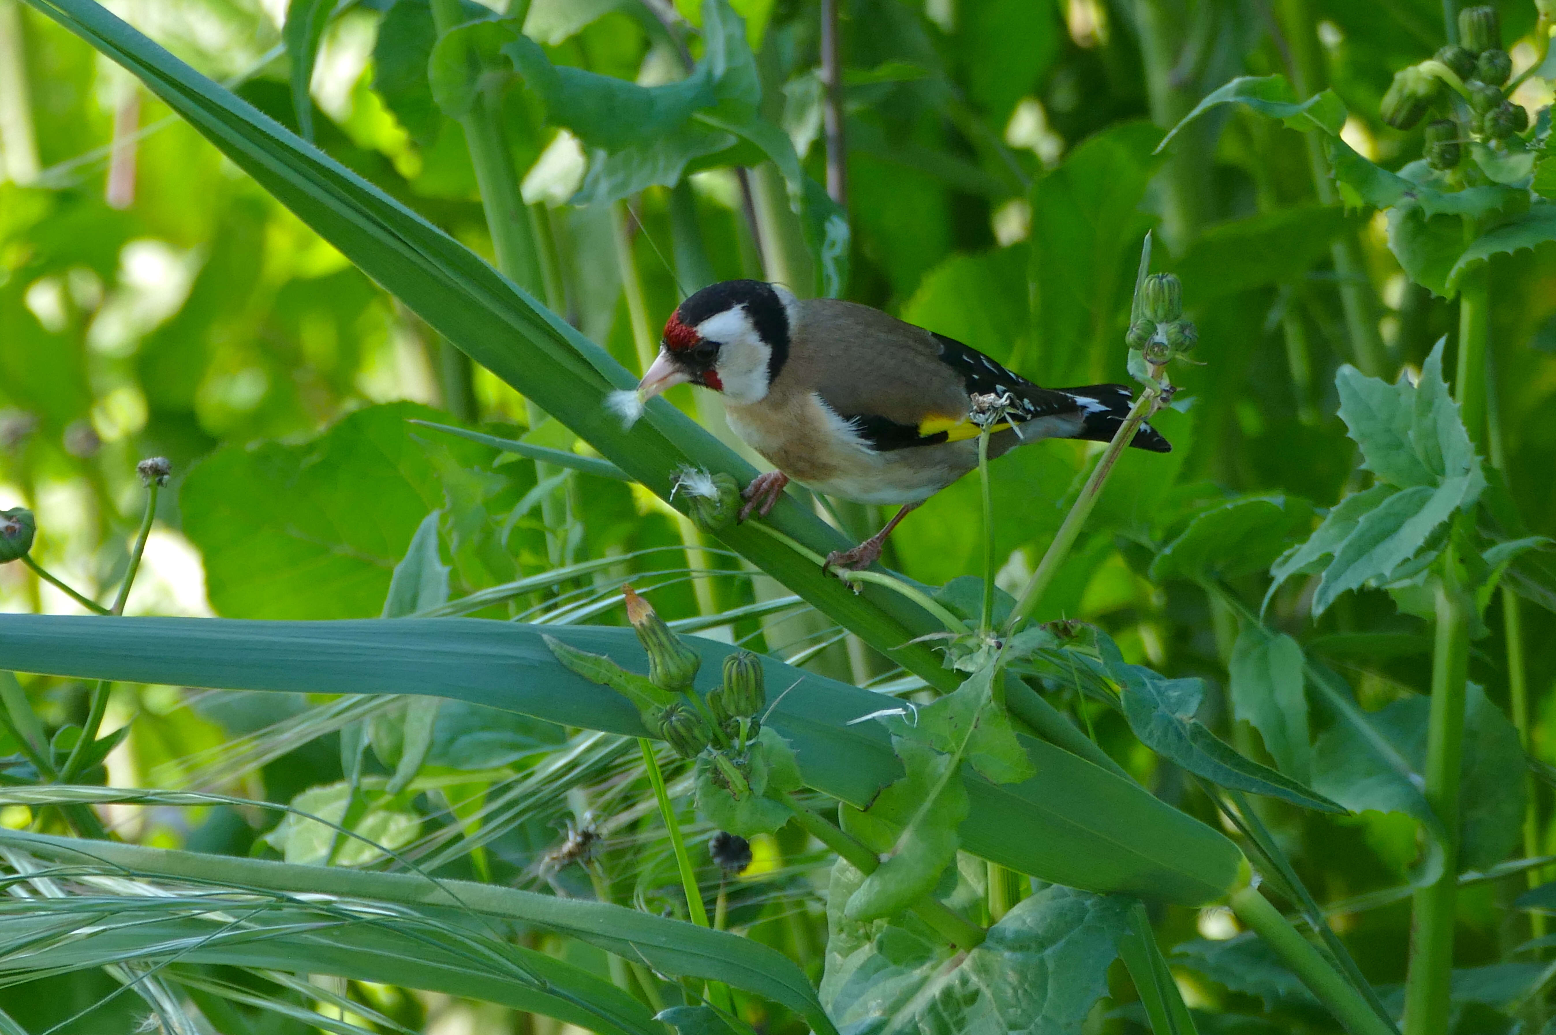
<svg viewBox="0 0 1556 1035"><path fill-rule="evenodd" d="M227 447L184 479L184 531L212 605L233 618L349 618L383 609L395 563L442 506L414 403L347 416L303 445Z"/></svg>

